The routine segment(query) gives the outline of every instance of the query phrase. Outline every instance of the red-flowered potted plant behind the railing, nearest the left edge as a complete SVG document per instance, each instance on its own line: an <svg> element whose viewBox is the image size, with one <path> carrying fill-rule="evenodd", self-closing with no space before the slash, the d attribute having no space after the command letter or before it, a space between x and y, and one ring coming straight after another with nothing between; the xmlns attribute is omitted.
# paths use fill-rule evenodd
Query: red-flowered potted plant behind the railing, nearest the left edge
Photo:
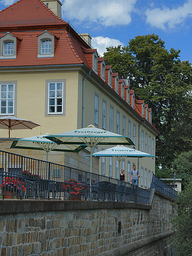
<svg viewBox="0 0 192 256"><path fill-rule="evenodd" d="M4 198L12 199L14 195L20 195L21 190L25 193L25 185L19 178L5 177L3 183L0 185Z"/></svg>

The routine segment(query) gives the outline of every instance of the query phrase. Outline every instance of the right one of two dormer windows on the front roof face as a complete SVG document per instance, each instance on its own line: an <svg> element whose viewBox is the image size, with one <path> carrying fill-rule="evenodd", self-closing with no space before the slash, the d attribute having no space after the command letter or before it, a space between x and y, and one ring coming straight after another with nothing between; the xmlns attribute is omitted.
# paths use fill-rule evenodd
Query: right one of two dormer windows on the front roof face
<svg viewBox="0 0 192 256"><path fill-rule="evenodd" d="M45 31L38 36L38 58L54 57L55 36Z"/></svg>

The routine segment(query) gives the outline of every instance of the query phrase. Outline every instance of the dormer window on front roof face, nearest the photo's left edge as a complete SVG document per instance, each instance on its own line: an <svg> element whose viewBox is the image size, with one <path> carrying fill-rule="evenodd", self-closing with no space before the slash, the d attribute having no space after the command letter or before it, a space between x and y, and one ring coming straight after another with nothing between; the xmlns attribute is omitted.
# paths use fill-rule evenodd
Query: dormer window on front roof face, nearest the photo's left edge
<svg viewBox="0 0 192 256"><path fill-rule="evenodd" d="M1 37L1 57L16 58L17 38L9 33Z"/></svg>

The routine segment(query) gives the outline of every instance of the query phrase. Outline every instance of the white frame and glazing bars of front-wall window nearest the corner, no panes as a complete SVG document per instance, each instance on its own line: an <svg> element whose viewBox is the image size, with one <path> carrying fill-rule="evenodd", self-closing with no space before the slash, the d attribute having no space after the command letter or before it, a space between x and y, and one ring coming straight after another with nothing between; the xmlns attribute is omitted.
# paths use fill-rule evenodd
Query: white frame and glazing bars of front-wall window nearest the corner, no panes
<svg viewBox="0 0 192 256"><path fill-rule="evenodd" d="M50 90L50 84L55 84L55 90ZM57 90L56 89L56 86L57 84L62 84L62 96L50 96L50 91L55 91L55 95L56 95L56 92L57 91L61 91L61 90ZM55 112L50 112L49 111L49 107L50 107L50 101L49 100L54 100L55 101L55 104L54 104L54 107L55 107L55 110L57 109L57 106L60 106L60 105L57 105L57 100L58 99L62 99L62 111L55 111ZM47 114L51 115L51 114L63 114L63 107L64 107L64 82L60 81L60 82L49 82L48 83L48 100L47 100Z"/></svg>

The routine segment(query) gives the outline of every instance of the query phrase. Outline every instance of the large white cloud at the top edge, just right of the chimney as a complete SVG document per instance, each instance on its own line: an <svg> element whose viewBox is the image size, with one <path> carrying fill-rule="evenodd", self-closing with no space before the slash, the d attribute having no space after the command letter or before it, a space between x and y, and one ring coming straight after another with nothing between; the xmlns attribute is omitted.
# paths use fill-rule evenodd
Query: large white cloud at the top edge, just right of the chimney
<svg viewBox="0 0 192 256"><path fill-rule="evenodd" d="M105 26L127 25L137 0L64 0L63 19L99 23Z"/></svg>

